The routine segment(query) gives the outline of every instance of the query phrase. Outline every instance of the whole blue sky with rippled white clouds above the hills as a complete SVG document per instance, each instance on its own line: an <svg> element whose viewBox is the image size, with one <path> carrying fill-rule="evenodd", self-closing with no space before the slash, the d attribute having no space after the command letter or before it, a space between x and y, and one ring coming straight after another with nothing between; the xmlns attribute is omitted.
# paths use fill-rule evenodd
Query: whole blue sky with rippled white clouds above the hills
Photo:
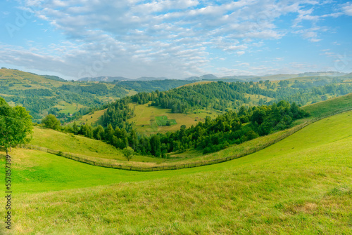
<svg viewBox="0 0 352 235"><path fill-rule="evenodd" d="M0 67L64 79L352 72L352 1L4 0Z"/></svg>

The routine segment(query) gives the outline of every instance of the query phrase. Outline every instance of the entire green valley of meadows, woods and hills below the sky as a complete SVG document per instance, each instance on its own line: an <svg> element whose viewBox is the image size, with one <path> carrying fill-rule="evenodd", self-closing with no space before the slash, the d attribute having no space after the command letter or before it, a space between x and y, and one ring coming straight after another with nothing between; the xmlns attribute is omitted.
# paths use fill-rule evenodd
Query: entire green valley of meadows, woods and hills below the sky
<svg viewBox="0 0 352 235"><path fill-rule="evenodd" d="M34 100L52 99L53 120L67 122L53 130L39 120L30 142L11 149L13 234L351 230L348 76L175 83L171 90L125 90L108 102L99 89L111 93L121 81L47 81L15 73L14 86L1 88L1 105L18 105L15 94L25 100L32 89ZM68 100L73 94L81 98ZM0 164L5 167L4 157Z"/></svg>

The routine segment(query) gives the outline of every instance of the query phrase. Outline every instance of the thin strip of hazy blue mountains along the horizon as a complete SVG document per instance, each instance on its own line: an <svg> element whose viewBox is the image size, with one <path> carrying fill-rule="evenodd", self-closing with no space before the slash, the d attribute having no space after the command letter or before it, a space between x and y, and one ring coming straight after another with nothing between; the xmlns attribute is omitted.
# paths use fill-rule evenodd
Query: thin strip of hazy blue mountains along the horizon
<svg viewBox="0 0 352 235"><path fill-rule="evenodd" d="M213 74L205 74L202 76L190 76L186 79L187 81L204 81L204 80L224 80L224 81L260 81L260 80L282 80L282 79L294 79L305 76L344 76L346 73L341 72L306 72L302 74L268 74L264 76L255 75L238 75L238 76L222 76L218 77ZM153 76L141 76L138 79L127 79L123 76L96 76L96 77L84 77L78 81L155 81L155 80L168 80L166 77L153 77Z"/></svg>

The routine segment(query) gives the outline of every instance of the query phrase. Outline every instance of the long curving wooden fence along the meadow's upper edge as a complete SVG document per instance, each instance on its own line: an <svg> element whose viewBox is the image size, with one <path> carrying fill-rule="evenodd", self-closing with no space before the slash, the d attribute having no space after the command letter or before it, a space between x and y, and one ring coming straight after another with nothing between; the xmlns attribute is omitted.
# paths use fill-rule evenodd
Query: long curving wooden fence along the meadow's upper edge
<svg viewBox="0 0 352 235"><path fill-rule="evenodd" d="M287 131L286 133L280 135L279 137L277 137L275 140L271 140L269 142L265 142L263 145L253 148L253 149L248 149L246 150L246 152L241 152L239 154L236 155L232 155L232 156L227 156L225 158L222 159L214 159L214 160L208 160L208 161L197 161L194 163L184 163L184 164L178 164L178 165L166 165L166 166L153 166L153 167L137 167L137 166L125 166L125 165L121 165L121 164L111 164L111 163L103 163L103 162L99 162L99 161L92 161L92 160L88 160L88 159L84 159L82 157L79 156L75 156L73 154L70 153L66 153L66 152L61 152L61 151L57 151L57 150L53 150L53 149L47 149L44 147L38 147L38 146L34 146L34 145L19 145L19 147L23 148L23 149L34 149L34 150L39 150L39 151L43 151L43 152L48 152L50 154L55 154L58 156L63 156L67 159L72 159L75 161L79 161L82 163L87 163L89 165L93 165L93 166L102 166L102 167L106 167L106 168L115 168L115 169L120 169L120 170L135 170L135 171L160 171L160 170L179 170L179 169L184 169L184 168L194 168L194 167L199 167L199 166L207 166L207 165L212 165L212 164L216 164L216 163L222 163L225 161L230 161L233 159L239 159L243 156L249 155L249 154L253 154L255 152L260 151L261 149L265 149L266 147L269 147L270 145L274 145L275 143L283 140L284 138L288 137L289 135L292 135L294 133L296 133L298 130L301 130L302 128L305 128L306 126L308 126L311 123L314 123L315 121L319 121L320 119L325 119L328 116L333 116L336 114L340 114L342 112L347 112L350 111L352 109L352 107L348 107L348 109L340 109L336 112L327 114L325 116L319 116L315 119L310 119L308 121L306 121L305 123L302 123L294 128L291 128L291 130Z"/></svg>

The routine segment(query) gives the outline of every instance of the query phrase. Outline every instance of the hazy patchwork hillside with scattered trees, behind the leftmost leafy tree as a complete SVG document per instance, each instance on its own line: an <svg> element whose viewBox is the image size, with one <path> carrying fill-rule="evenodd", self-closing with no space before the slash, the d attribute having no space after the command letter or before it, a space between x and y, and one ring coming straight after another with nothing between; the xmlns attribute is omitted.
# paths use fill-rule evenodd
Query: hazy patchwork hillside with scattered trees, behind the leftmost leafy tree
<svg viewBox="0 0 352 235"><path fill-rule="evenodd" d="M130 90L111 83L65 81L56 76L37 75L16 69L0 69L0 96L9 105L25 107L40 123L47 114L68 122L89 109L129 94Z"/></svg>

